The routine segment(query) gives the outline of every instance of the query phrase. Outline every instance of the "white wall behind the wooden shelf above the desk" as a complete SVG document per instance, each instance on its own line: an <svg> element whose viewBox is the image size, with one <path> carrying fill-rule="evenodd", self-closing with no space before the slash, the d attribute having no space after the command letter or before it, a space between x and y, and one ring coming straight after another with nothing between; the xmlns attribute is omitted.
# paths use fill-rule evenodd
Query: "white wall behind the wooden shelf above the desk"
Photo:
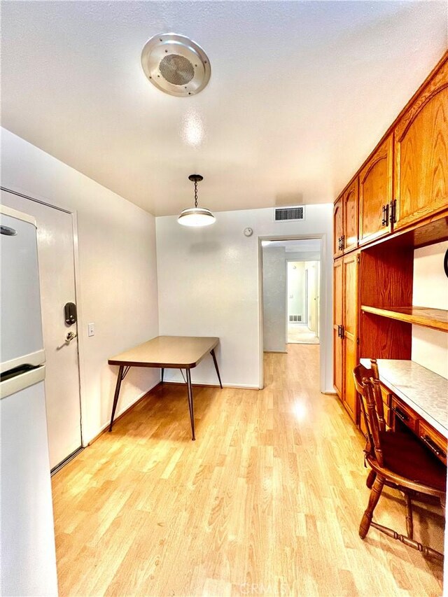
<svg viewBox="0 0 448 597"><path fill-rule="evenodd" d="M414 251L412 304L448 309L448 278L443 258L448 241ZM412 325L412 360L448 379L448 334Z"/></svg>

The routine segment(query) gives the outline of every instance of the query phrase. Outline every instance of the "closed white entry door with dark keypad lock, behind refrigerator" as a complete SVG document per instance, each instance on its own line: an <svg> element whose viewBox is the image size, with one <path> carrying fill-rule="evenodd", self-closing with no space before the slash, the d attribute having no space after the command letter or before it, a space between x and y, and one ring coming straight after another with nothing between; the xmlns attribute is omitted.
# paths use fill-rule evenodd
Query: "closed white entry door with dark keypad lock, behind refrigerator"
<svg viewBox="0 0 448 597"><path fill-rule="evenodd" d="M36 218L43 347L45 399L50 468L55 468L81 446L77 325L67 325L64 306L76 304L73 261L73 224L70 213L1 191L3 205Z"/></svg>

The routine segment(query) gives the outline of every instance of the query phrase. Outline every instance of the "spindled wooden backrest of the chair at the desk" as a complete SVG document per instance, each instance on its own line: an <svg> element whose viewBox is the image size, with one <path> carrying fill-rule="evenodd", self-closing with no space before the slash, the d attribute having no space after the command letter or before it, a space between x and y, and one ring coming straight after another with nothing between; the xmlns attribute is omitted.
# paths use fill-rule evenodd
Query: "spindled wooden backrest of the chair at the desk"
<svg viewBox="0 0 448 597"><path fill-rule="evenodd" d="M363 365L357 365L353 370L356 391L360 395L361 414L364 418L367 430L367 445L365 451L377 458L380 465L383 465L381 450L381 431L386 430L384 420L383 399L378 379L377 361L371 360L372 367L367 369Z"/></svg>

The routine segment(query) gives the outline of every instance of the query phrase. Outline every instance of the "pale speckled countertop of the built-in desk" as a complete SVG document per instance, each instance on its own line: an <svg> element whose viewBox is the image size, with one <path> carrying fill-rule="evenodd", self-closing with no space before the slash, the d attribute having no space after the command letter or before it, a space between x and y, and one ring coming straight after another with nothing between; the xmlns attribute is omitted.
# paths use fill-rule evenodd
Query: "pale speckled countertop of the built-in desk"
<svg viewBox="0 0 448 597"><path fill-rule="evenodd" d="M361 358L370 367L370 359ZM448 438L448 380L412 360L377 359L379 381Z"/></svg>

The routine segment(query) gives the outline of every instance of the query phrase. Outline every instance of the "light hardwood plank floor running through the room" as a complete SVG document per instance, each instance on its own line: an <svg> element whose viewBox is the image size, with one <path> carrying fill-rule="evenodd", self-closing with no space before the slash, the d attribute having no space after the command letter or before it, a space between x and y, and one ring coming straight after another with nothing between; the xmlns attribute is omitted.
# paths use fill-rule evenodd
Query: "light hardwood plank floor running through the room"
<svg viewBox="0 0 448 597"><path fill-rule="evenodd" d="M62 596L441 594L440 564L358 538L363 442L318 392L318 346L288 349L265 354L263 391L194 389L196 442L165 385L53 477ZM405 532L386 494L376 517ZM415 535L442 550L433 510Z"/></svg>

